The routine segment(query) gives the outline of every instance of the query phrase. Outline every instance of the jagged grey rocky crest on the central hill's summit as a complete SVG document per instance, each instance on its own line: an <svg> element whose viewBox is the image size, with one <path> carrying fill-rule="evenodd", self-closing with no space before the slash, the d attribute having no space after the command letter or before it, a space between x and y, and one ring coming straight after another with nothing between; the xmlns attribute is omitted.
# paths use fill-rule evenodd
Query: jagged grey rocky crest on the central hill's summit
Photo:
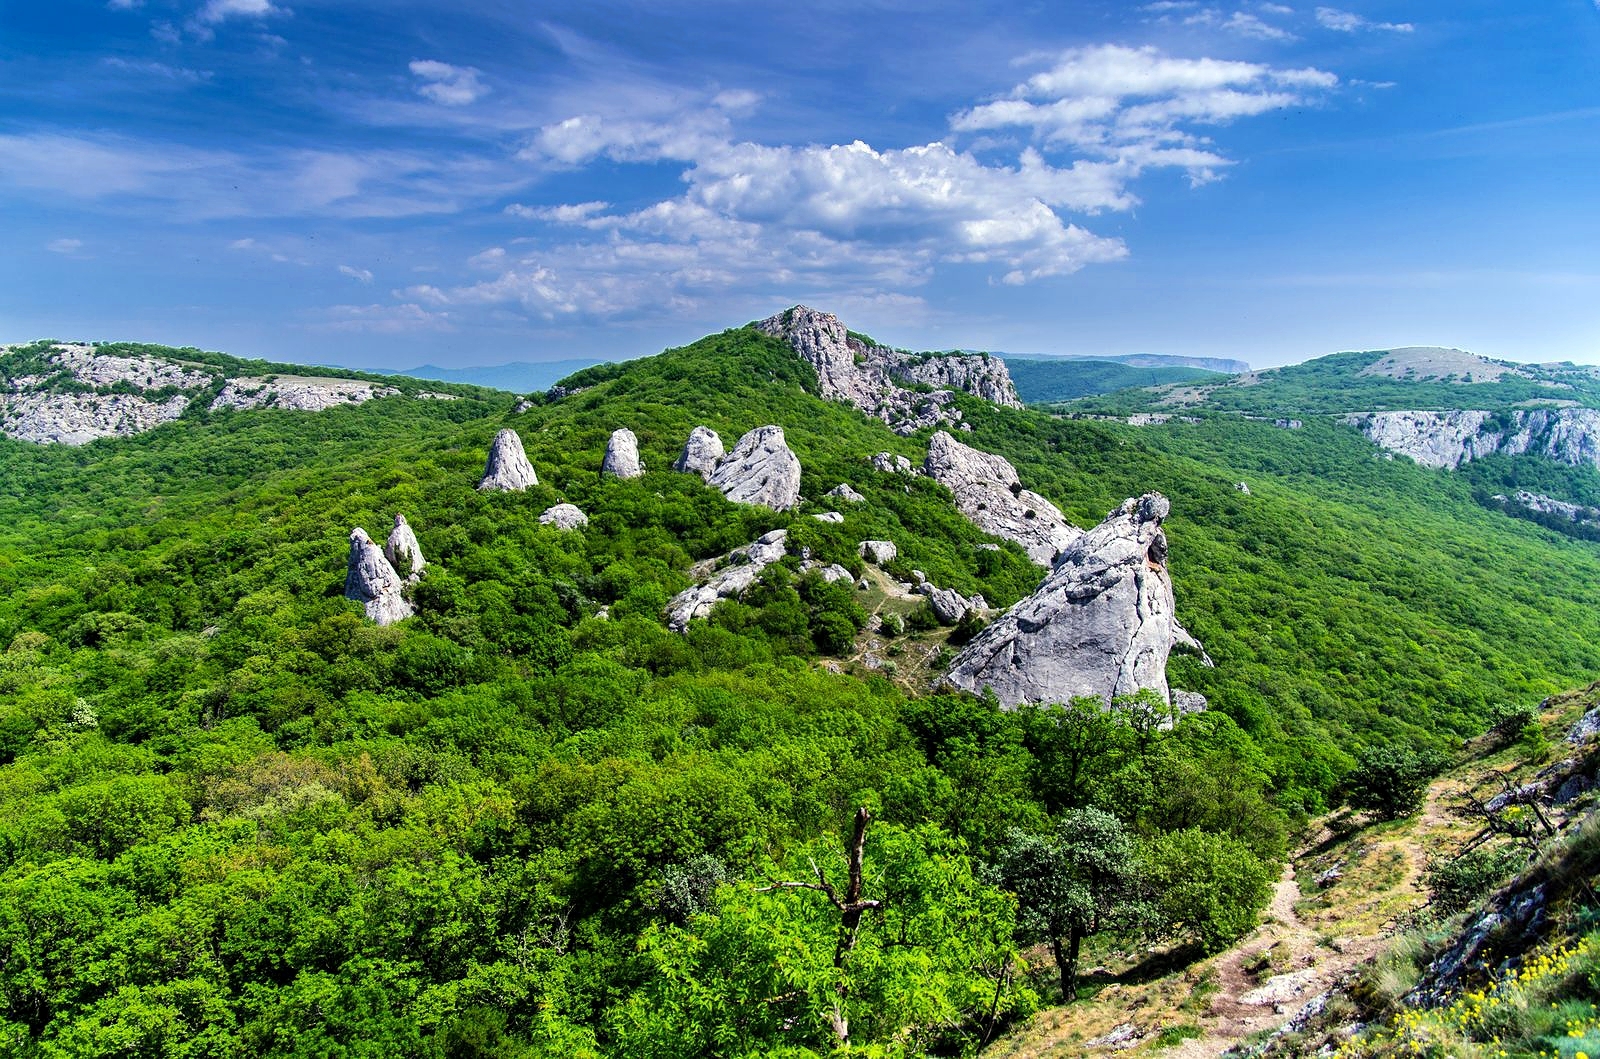
<svg viewBox="0 0 1600 1059"><path fill-rule="evenodd" d="M962 411L950 406L950 390L1008 408L1022 406L1011 373L997 357L909 354L875 346L850 334L834 314L805 306L768 317L755 330L789 342L816 368L822 397L848 402L896 434L960 422ZM936 389L922 394L902 384Z"/></svg>

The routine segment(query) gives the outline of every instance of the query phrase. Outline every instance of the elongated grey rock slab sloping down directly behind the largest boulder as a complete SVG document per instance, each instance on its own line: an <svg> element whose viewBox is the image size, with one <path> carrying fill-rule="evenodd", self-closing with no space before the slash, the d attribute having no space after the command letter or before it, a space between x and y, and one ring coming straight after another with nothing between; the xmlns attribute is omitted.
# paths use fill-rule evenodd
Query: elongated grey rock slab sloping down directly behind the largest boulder
<svg viewBox="0 0 1600 1059"><path fill-rule="evenodd" d="M1003 456L962 445L944 430L928 442L923 474L955 494L955 507L984 533L1016 541L1035 563L1083 536L1054 504L1029 493Z"/></svg>

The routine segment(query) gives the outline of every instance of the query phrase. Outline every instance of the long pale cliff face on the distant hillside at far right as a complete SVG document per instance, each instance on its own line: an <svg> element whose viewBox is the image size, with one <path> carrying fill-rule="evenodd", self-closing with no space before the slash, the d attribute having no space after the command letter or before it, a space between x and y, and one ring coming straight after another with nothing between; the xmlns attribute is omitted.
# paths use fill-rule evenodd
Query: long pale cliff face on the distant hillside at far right
<svg viewBox="0 0 1600 1059"><path fill-rule="evenodd" d="M1346 416L1344 422L1424 467L1456 469L1496 453L1600 467L1600 410L1595 408L1373 411Z"/></svg>

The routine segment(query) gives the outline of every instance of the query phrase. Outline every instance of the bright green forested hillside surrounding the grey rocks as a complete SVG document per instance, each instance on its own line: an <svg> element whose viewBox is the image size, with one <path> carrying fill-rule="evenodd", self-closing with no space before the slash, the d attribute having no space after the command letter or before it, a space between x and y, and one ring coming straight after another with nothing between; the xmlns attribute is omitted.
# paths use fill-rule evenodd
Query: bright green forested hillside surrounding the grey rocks
<svg viewBox="0 0 1600 1059"><path fill-rule="evenodd" d="M1171 673L1208 712L1003 713L862 667L861 593L794 560L674 633L691 563L774 528L853 573L894 541L891 571L998 606L1043 571L872 469L926 430L819 400L754 330L565 389L0 438L8 1054L971 1054L1070 989L1069 936L1248 929L1362 747L1437 750L1600 672L1590 542L1355 430L966 397L963 440L1078 525L1171 499L1179 617L1216 661ZM699 424L782 426L802 507L672 472ZM539 485L480 493L507 426ZM618 427L640 478L598 474ZM838 483L864 501L811 518ZM557 501L587 528L541 526ZM429 568L379 629L341 595L347 534L395 514ZM934 624L885 633L891 661L938 656ZM1035 869L1090 846L1128 894L1197 885L1066 923Z"/></svg>

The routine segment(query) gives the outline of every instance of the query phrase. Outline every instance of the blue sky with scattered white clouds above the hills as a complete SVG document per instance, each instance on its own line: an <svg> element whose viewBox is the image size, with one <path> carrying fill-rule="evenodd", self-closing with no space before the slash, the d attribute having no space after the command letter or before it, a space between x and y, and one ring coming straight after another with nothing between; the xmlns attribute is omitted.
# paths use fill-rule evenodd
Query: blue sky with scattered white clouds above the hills
<svg viewBox="0 0 1600 1059"><path fill-rule="evenodd" d="M0 0L0 341L1600 362L1600 0Z"/></svg>

